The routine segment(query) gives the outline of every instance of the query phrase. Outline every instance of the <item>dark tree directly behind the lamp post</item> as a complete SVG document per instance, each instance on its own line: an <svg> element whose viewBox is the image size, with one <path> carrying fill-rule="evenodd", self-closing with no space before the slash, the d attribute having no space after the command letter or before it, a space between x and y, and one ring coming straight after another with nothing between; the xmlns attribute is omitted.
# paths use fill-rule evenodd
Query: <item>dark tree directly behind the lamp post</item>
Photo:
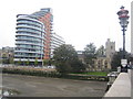
<svg viewBox="0 0 133 99"><path fill-rule="evenodd" d="M111 62L111 68L112 70L116 70L119 66L121 66L121 59L122 59L122 55L123 55L123 51L120 48L119 52L116 52L113 55L112 62ZM127 52L125 52L125 58L127 59L127 62L130 61L131 54L129 54Z"/></svg>

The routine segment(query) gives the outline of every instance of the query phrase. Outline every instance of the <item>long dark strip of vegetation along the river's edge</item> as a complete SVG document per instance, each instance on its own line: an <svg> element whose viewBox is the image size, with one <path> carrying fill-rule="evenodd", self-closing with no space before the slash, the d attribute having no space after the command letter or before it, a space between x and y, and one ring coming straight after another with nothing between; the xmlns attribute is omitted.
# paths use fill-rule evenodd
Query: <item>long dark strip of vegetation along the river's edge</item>
<svg viewBox="0 0 133 99"><path fill-rule="evenodd" d="M79 79L79 80L99 80L99 81L108 81L106 76L98 76L98 75L61 75L58 72L45 72L45 70L37 70L37 69L23 69L23 68L3 68L2 73L8 74L19 74L19 75L30 75L30 76L42 76L42 77L54 77L54 78L68 78L68 79Z"/></svg>

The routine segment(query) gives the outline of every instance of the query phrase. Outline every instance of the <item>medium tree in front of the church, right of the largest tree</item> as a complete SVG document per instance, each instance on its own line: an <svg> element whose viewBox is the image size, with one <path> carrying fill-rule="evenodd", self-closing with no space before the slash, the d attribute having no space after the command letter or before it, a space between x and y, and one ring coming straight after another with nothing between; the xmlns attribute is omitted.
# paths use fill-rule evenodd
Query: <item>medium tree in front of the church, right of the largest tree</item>
<svg viewBox="0 0 133 99"><path fill-rule="evenodd" d="M94 64L94 58L96 58L96 50L95 50L95 45L93 43L90 43L85 46L84 48L84 62L86 63L86 65L93 67Z"/></svg>

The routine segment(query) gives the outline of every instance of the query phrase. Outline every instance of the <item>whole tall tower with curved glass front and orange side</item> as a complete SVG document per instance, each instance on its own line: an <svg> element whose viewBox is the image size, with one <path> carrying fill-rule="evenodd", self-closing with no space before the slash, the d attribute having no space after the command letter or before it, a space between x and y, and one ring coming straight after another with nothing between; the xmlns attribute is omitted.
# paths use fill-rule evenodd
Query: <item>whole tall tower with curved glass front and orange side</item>
<svg viewBox="0 0 133 99"><path fill-rule="evenodd" d="M17 15L17 34L14 62L42 62L51 58L53 15L50 8L41 9L32 14ZM62 44L60 38L57 38Z"/></svg>

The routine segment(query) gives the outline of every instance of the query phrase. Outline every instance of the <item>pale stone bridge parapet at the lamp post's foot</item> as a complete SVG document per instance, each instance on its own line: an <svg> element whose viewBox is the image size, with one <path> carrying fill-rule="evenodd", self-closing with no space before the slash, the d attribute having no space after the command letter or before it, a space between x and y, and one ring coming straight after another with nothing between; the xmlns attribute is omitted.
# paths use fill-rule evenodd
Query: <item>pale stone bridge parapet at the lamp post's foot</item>
<svg viewBox="0 0 133 99"><path fill-rule="evenodd" d="M105 97L131 97L131 74L121 73L104 95Z"/></svg>

